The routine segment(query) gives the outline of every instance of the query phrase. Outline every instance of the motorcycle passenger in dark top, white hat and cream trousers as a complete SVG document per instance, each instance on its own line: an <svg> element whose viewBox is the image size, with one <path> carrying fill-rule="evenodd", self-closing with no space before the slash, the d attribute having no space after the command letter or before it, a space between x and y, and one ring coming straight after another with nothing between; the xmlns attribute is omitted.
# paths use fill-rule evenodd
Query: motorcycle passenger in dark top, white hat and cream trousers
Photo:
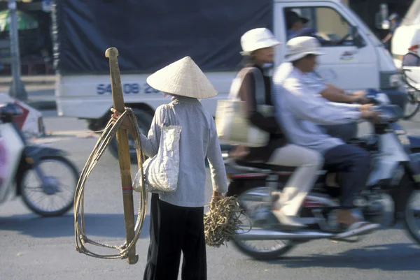
<svg viewBox="0 0 420 280"><path fill-rule="evenodd" d="M233 147L230 156L241 161L297 167L283 192L272 193L272 213L283 225L303 227L304 225L299 223L295 216L314 184L323 160L321 154L314 150L289 144L274 116L265 117L257 110L255 94L259 92L256 92L255 88L255 75L262 75L265 87L262 94L265 96L265 104L272 105L272 79L263 66L273 63L276 45L279 45L279 41L265 28L252 29L241 37L243 50L241 54L246 59L244 67L251 67L251 71L244 76L239 89L239 98L246 103L249 121L254 126L269 132L270 139L265 147L251 148L242 145Z"/></svg>

